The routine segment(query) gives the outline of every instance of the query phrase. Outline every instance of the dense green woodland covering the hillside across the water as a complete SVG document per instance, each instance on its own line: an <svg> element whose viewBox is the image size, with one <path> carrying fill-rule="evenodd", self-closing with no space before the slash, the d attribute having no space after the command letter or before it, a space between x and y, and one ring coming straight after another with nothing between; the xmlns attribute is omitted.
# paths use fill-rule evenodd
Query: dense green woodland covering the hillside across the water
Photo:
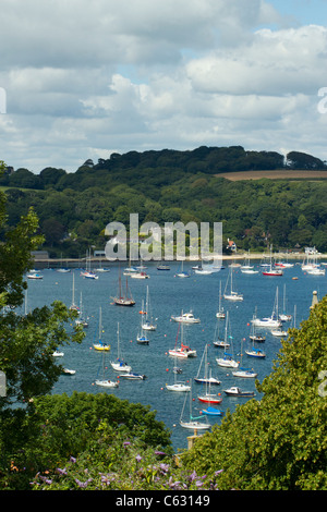
<svg viewBox="0 0 327 512"><path fill-rule="evenodd" d="M192 151L112 154L95 164L86 160L75 172L46 168L39 174L7 168L0 185L8 187L7 227L31 206L45 235L41 248L60 257L83 257L89 245L102 249L105 228L116 220L129 224L154 221L222 222L223 239L243 251L327 251L325 181L246 180L219 178L227 171L274 169L327 170L311 155L291 151L245 151L241 146ZM327 175L327 173L326 173ZM226 247L226 243L223 243Z"/></svg>

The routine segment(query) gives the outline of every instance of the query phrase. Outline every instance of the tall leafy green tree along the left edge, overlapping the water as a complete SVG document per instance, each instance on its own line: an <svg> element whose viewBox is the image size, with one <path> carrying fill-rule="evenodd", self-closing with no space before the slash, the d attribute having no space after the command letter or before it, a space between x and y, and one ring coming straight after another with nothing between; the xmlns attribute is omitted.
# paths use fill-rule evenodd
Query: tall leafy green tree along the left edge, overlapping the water
<svg viewBox="0 0 327 512"><path fill-rule="evenodd" d="M4 222L5 196L1 192L1 229ZM25 431L21 426L33 400L49 392L61 375L62 368L52 356L55 350L83 338L78 328L72 334L65 330L75 314L60 302L27 315L22 310L25 275L33 266L31 252L41 242L35 234L37 229L38 220L31 209L15 228L4 230L0 244L0 370L5 377L5 392L0 397L0 480L5 480L12 458L22 450Z"/></svg>

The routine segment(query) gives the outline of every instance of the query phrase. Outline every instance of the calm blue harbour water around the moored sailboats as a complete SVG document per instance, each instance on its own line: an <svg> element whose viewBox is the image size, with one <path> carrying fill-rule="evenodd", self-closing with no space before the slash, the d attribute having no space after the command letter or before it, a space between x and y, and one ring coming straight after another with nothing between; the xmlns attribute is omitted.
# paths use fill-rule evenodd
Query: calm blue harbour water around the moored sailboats
<svg viewBox="0 0 327 512"><path fill-rule="evenodd" d="M255 263L258 265L258 261ZM191 270L191 264L184 264L184 270ZM28 280L27 307L34 308L45 304L51 304L55 300L60 300L68 306L72 303L73 272L75 280L75 302L80 302L82 292L83 310L88 317L89 327L85 329L86 337L81 345L64 346L64 356L58 361L66 368L75 369L74 376L62 376L53 388L53 393L66 392L71 394L73 390L86 391L89 393L104 392L104 389L94 386L102 355L93 350L93 342L98 339L99 308L102 312L104 334L102 341L111 344L111 352L108 358L108 378L116 379L117 374L112 370L109 359L117 356L117 326L120 325L120 345L124 358L133 367L134 371L145 374L147 378L141 381L121 380L120 387L105 392L113 393L121 399L131 402L141 402L150 405L157 411L157 419L165 422L172 432L172 442L175 449L186 448L186 437L192 431L179 425L181 411L184 403L184 393L177 393L166 390L166 382L173 382L172 367L173 358L167 355L168 349L172 349L178 333L178 324L170 320L171 315L193 310L194 316L201 318L199 325L184 327L184 341L197 351L196 358L179 361L183 374L179 376L181 380L193 380L195 377L201 357L206 343L209 343L208 357L213 376L221 380L221 385L214 388L214 391L221 392L223 397L219 406L222 411L234 410L237 404L243 403L244 398L228 398L222 392L223 389L237 385L246 390L255 390L255 379L234 378L227 368L217 365L215 357L221 356L222 349L213 345L215 328L217 325L216 312L219 304L219 282L223 292L228 277L228 268L210 276L192 275L189 279L174 277L179 264L171 263L170 271L158 271L155 263L148 263L147 273L149 279L130 279L136 305L134 307L120 307L112 304L111 296L118 290L119 267L112 265L111 271L99 273L98 280L85 279L80 276L80 270L72 270L70 273L60 273L56 270L41 270L43 280ZM312 302L312 293L317 290L318 297L327 293L326 277L310 276L302 271L300 264L293 268L284 269L282 277L264 277L258 275L246 276L239 269L234 269L233 279L235 288L243 293L244 301L241 303L230 303L222 301L225 309L229 310L231 334L233 337L233 352L240 354L241 340L246 339L244 349L249 346L250 320L257 307L257 316L264 317L271 314L276 288L279 290L279 312L283 305L283 290L286 284L287 312L293 315L296 306L296 327L303 319L306 319ZM298 280L293 280L298 277ZM124 278L122 279L124 282ZM157 318L157 330L148 332L149 344L140 345L136 336L141 324L140 310L142 301L146 298L146 287L149 289L150 304L154 316ZM225 320L220 320L221 333ZM286 326L291 327L290 322ZM265 343L257 344L266 352L265 359L255 359L243 355L243 366L252 367L258 373L258 379L270 373L272 362L280 349L280 339L266 333ZM240 359L240 355L235 357ZM205 406L201 405L196 397L199 394L201 385L193 382L193 414ZM213 391L213 390L211 390ZM256 398L259 398L256 393ZM185 409L189 413L189 407ZM221 419L209 418L211 423Z"/></svg>

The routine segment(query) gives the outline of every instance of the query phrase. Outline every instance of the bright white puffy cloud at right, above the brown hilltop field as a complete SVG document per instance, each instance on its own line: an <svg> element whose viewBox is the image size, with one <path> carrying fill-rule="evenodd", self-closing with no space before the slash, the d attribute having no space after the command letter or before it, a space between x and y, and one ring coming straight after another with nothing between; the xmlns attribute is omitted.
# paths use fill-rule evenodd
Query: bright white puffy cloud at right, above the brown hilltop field
<svg viewBox="0 0 327 512"><path fill-rule="evenodd" d="M222 94L295 95L324 83L327 28L259 31L242 48L218 49L186 69L196 90Z"/></svg>

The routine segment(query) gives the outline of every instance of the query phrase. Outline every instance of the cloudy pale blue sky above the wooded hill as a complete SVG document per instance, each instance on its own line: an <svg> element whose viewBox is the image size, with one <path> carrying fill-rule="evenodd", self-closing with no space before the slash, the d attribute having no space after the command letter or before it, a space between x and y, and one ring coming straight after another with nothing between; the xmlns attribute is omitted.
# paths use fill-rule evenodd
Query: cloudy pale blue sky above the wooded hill
<svg viewBox="0 0 327 512"><path fill-rule="evenodd" d="M327 0L0 0L0 23L15 169L202 145L327 160Z"/></svg>

